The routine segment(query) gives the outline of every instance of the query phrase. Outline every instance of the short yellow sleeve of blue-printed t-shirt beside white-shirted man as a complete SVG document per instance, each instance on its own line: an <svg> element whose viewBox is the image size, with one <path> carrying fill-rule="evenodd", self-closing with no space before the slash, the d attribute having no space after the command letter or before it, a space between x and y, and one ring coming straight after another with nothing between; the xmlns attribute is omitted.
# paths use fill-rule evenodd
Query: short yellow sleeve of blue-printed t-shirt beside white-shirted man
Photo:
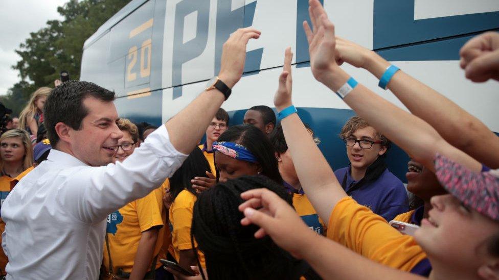
<svg viewBox="0 0 499 280"><path fill-rule="evenodd" d="M162 205L158 205L158 192L161 192L161 189L155 189L148 195L135 201L141 233L153 226L163 227L163 219L161 217Z"/></svg>

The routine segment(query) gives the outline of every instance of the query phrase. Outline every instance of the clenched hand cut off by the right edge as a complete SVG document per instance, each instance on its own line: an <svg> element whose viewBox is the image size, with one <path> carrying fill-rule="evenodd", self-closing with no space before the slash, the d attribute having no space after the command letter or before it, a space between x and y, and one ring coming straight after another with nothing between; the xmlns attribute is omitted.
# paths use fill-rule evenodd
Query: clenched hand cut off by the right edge
<svg viewBox="0 0 499 280"><path fill-rule="evenodd" d="M472 38L461 48L460 66L473 82L499 81L499 33L486 32Z"/></svg>

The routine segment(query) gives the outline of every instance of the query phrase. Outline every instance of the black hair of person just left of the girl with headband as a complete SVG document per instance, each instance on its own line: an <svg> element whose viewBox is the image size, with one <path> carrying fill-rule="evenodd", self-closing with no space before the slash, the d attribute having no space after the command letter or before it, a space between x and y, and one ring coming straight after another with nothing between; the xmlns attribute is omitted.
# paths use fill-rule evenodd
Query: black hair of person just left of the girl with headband
<svg viewBox="0 0 499 280"><path fill-rule="evenodd" d="M196 190L192 187L191 180L194 177L206 177L206 171L211 172L211 167L205 155L198 147L195 147L189 157L180 168L170 177L170 193L175 200L177 195L184 189L197 196Z"/></svg>

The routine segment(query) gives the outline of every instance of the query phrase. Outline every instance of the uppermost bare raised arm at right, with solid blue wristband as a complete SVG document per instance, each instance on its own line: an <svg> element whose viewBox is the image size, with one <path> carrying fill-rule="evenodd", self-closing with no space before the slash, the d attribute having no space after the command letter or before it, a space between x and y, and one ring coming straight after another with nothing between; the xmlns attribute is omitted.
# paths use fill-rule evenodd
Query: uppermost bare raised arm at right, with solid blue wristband
<svg viewBox="0 0 499 280"><path fill-rule="evenodd" d="M340 63L345 61L365 68L378 79L390 66L390 62L372 50L339 37L336 37L336 56ZM452 146L489 167L499 167L499 158L494 156L499 154L499 138L479 119L402 70L393 75L388 88Z"/></svg>

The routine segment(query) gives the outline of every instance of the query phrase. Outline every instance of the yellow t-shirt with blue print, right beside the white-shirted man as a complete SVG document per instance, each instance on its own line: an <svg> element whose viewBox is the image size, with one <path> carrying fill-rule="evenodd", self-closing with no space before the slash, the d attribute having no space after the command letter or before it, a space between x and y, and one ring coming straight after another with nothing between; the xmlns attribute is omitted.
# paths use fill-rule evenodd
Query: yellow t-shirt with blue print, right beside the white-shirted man
<svg viewBox="0 0 499 280"><path fill-rule="evenodd" d="M119 268L124 272L131 272L135 253L139 248L142 232L151 227L160 226L153 257L160 253L164 240L164 218L163 189L157 188L143 198L127 203L118 211L107 216L106 234L109 239L111 260L113 270L116 273ZM162 212L163 217L162 217ZM158 256L158 259L162 256ZM106 272L109 271L109 254L104 244L103 263ZM157 261L156 268L161 263ZM149 266L150 267L150 266Z"/></svg>

